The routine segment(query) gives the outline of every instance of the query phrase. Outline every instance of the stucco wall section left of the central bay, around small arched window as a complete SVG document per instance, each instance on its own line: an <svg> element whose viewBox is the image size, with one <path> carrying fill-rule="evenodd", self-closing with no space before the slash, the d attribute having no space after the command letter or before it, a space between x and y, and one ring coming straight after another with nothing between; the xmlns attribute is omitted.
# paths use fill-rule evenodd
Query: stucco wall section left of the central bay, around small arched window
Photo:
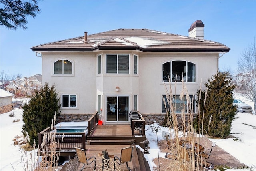
<svg viewBox="0 0 256 171"><path fill-rule="evenodd" d="M45 82L55 85L59 97L76 94L76 108L61 108L62 114L94 113L96 111L96 56L88 53L42 53L42 86ZM72 75L54 75L56 60L66 59L73 63ZM60 99L62 101L62 99Z"/></svg>

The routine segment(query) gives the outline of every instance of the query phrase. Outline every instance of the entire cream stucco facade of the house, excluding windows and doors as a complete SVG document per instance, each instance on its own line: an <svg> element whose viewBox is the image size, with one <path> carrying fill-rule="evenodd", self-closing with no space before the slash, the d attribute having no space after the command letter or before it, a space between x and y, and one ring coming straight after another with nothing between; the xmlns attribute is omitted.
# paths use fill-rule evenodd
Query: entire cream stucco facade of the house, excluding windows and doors
<svg viewBox="0 0 256 171"><path fill-rule="evenodd" d="M129 74L106 74L106 54L129 54ZM138 55L138 74L134 74L134 54ZM101 73L98 74L98 55L102 56ZM162 95L166 94L162 82L162 64L172 60L184 60L196 64L196 82L186 83L188 92L193 95L200 83L207 82L218 69L218 53L149 53L136 51L102 52L44 52L42 53L42 86L45 82L56 85L59 96L63 93L78 95L75 109L61 108L62 114L92 114L98 109L98 95L101 108L106 112L106 96L128 96L129 110L134 108L134 95L138 95L138 110L142 114L161 114ZM66 59L73 63L71 76L53 74L56 60ZM169 83L166 83L168 85ZM120 91L116 91L116 87ZM172 84L174 95L179 95L181 83ZM176 92L174 90L176 89ZM60 100L61 101L61 100Z"/></svg>

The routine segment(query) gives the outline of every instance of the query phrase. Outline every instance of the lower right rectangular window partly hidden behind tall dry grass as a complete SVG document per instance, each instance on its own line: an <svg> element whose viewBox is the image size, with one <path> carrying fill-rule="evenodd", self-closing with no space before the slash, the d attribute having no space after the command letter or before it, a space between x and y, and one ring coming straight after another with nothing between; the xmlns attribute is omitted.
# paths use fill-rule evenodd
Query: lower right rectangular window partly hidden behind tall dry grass
<svg viewBox="0 0 256 171"><path fill-rule="evenodd" d="M187 102L186 97L183 98L183 100L180 100L179 95L173 95L172 96L172 103L175 108L175 113L194 113L195 112L195 96L194 95L189 95L190 101ZM166 108L170 110L170 106L168 104L168 98L166 95L163 95L162 99L162 113L166 113ZM165 108L165 104L166 108ZM184 108L185 107L185 108Z"/></svg>

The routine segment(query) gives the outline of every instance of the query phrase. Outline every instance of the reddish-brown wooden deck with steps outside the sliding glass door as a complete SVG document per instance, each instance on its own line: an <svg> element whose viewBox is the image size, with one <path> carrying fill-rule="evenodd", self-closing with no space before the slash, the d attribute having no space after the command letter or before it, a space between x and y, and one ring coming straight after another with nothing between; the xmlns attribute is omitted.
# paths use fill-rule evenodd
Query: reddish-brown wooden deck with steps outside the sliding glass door
<svg viewBox="0 0 256 171"><path fill-rule="evenodd" d="M131 125L96 125L91 135L87 137L85 145L86 156L87 158L91 156L96 157L96 170L99 170L102 167L102 157L99 156L99 153L107 150L108 154L120 157L122 148L133 146L132 162L129 162L128 166L132 171L146 171L149 169L149 166L147 163L144 163L144 157L140 149L136 149L135 147L136 141L141 141L140 143L143 147L142 139L146 139L146 136L132 136ZM74 154L70 155L70 157L74 157ZM114 158L110 158L110 161L114 164ZM81 169L82 166L83 165L80 164L78 170ZM58 168L61 169L62 166ZM126 163L117 165L117 168L120 168L117 170L128 171ZM93 165L86 166L84 171L85 170L92 171Z"/></svg>

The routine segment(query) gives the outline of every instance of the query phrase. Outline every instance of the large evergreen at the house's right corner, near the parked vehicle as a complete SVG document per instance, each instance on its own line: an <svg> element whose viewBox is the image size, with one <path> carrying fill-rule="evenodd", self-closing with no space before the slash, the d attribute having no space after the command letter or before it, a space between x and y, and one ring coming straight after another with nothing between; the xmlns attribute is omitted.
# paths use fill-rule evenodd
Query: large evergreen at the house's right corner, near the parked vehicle
<svg viewBox="0 0 256 171"><path fill-rule="evenodd" d="M236 119L236 106L233 105L232 93L236 86L232 84L229 72L217 71L208 82L204 84L208 90L202 91L199 107L199 99L196 101L200 118L199 123L198 118L194 120L194 127L203 128L210 136L224 138L230 134L232 121ZM198 90L198 97L199 93ZM205 95L206 99L204 99Z"/></svg>

